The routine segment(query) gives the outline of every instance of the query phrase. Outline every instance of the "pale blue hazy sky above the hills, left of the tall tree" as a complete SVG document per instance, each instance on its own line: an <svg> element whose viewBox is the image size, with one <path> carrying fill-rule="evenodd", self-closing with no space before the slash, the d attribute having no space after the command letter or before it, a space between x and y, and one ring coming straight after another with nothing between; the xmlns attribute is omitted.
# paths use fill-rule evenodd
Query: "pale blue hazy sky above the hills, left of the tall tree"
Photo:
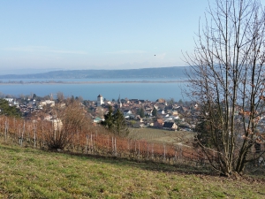
<svg viewBox="0 0 265 199"><path fill-rule="evenodd" d="M211 0L209 0L211 2ZM0 73L185 65L208 0L1 1Z"/></svg>

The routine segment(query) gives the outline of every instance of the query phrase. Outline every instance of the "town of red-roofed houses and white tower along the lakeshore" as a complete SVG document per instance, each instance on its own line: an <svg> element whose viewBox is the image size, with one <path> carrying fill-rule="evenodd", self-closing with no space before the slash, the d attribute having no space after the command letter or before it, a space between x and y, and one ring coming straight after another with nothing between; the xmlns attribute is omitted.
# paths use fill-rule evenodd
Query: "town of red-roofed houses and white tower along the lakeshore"
<svg viewBox="0 0 265 199"><path fill-rule="evenodd" d="M36 113L45 108L52 108L60 101L61 106L65 106L62 99L63 94L58 93L58 98L54 99L53 95L40 97L22 96L22 97L4 97L4 100L9 102L10 106L16 106L22 112L25 119L35 119ZM72 99L79 100L80 106L86 110L86 113L91 117L94 125L99 124L104 120L104 115L108 113L110 106L117 111L123 112L127 126L134 128L155 127L173 131L193 131L194 125L186 122L186 115L195 116L199 109L196 103L186 103L174 99L165 100L157 99L155 102L141 99L118 99L107 100L102 95L98 95L97 100L83 100L81 97L73 97ZM49 121L57 120L56 116L46 113L45 117Z"/></svg>

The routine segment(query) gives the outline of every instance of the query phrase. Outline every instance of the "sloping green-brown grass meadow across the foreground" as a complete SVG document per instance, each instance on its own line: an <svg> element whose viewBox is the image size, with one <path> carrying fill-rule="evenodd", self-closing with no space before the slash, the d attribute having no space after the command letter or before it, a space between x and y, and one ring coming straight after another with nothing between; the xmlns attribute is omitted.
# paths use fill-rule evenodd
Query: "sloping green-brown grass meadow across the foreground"
<svg viewBox="0 0 265 199"><path fill-rule="evenodd" d="M265 198L264 181L0 143L1 198ZM186 170L187 171L187 170Z"/></svg>

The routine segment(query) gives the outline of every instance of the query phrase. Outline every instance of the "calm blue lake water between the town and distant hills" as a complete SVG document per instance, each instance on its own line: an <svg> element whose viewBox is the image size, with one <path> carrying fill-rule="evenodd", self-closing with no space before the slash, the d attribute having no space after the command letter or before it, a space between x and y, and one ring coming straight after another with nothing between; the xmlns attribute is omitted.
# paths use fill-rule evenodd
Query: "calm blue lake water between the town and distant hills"
<svg viewBox="0 0 265 199"><path fill-rule="evenodd" d="M63 92L64 96L82 96L86 100L96 100L96 97L101 94L108 100L116 99L120 95L121 98L128 99L143 99L155 101L158 98L170 99L178 101L185 99L182 96L182 88L185 88L186 83L180 82L133 82L125 83L118 81L170 81L173 79L67 79L56 81L102 81L101 83L87 83L87 84L1 84L0 92L5 95L19 96L36 94L37 96L48 96L50 94L57 94ZM7 82L9 80L2 80ZM15 80L19 81L19 80ZM36 80L23 80L23 82ZM37 80L49 81L49 80ZM115 83L106 83L103 81L115 81Z"/></svg>

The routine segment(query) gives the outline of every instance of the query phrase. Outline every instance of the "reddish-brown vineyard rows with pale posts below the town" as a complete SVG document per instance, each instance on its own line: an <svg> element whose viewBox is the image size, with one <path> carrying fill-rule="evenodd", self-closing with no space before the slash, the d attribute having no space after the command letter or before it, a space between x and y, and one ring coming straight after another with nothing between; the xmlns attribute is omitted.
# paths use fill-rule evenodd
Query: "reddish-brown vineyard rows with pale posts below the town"
<svg viewBox="0 0 265 199"><path fill-rule="evenodd" d="M55 130L51 122L44 120L0 118L1 140L21 147L50 149L49 142L56 141L60 131L63 130ZM183 143L183 140L179 142L181 140L178 140L180 138L176 136L176 132L163 131L163 134L165 137L175 137L176 142L157 142L159 136L161 137L161 133L157 131L153 134L144 132L140 134L140 132L131 131L127 138L121 138L108 133L102 126L88 125L86 128L75 129L74 132L67 134L72 139L69 139L64 149L56 150L84 155L153 161L170 165L208 167L207 157L199 149L193 149L191 145ZM191 134L189 134L190 139L193 138ZM180 135L183 136L183 133ZM68 137L60 139L68 139ZM151 142L155 139L156 142ZM264 165L264 161L261 164Z"/></svg>

